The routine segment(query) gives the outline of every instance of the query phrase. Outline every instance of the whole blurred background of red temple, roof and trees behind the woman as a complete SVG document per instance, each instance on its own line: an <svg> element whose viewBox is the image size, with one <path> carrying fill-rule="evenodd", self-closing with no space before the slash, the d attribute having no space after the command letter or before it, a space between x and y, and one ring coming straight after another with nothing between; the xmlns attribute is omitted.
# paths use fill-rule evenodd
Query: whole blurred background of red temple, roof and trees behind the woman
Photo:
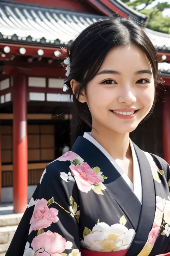
<svg viewBox="0 0 170 256"><path fill-rule="evenodd" d="M115 13L144 27L165 81L154 113L131 138L170 163L170 1L0 0L0 256L46 165L76 139L79 118L62 92L60 47Z"/></svg>

